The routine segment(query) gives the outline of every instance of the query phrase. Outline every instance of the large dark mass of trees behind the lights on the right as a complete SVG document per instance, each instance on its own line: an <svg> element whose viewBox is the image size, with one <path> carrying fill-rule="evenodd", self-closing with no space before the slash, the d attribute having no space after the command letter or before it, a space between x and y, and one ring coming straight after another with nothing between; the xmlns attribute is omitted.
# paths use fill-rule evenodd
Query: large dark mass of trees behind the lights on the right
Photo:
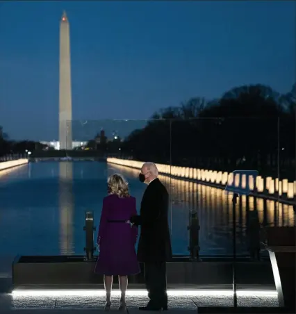
<svg viewBox="0 0 296 314"><path fill-rule="evenodd" d="M295 176L296 85L279 94L265 85L233 88L220 99L195 97L160 110L124 141L122 154L188 167Z"/></svg>

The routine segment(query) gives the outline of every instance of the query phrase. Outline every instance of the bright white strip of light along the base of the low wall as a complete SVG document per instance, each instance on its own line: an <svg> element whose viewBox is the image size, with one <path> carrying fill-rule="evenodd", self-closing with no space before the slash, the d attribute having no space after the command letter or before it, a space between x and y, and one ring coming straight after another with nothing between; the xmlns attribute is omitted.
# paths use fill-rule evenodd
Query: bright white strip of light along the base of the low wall
<svg viewBox="0 0 296 314"><path fill-rule="evenodd" d="M120 296L120 290L112 290L112 295ZM238 290L238 297L256 296L277 296L277 291L272 290ZM105 290L14 290L13 297L99 297L106 295ZM126 295L133 297L145 297L147 291L127 290ZM214 296L214 297L231 297L232 290L167 290L169 297L199 297L199 296Z"/></svg>

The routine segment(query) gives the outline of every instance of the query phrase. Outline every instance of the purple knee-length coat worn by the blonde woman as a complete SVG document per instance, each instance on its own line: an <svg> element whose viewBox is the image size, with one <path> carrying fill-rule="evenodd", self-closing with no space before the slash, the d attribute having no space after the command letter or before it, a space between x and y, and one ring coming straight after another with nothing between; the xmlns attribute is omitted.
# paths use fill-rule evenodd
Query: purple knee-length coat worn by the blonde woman
<svg viewBox="0 0 296 314"><path fill-rule="evenodd" d="M137 215L135 197L108 195L103 200L97 243L99 257L94 272L108 276L138 274L140 267L135 253L138 228L125 222Z"/></svg>

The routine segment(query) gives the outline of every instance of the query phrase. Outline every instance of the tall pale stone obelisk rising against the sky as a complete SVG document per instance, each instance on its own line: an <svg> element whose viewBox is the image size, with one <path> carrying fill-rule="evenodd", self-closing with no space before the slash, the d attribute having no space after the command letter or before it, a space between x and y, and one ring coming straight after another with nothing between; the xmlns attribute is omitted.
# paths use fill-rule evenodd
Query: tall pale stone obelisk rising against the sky
<svg viewBox="0 0 296 314"><path fill-rule="evenodd" d="M64 11L60 20L60 149L72 149L72 91L69 21Z"/></svg>

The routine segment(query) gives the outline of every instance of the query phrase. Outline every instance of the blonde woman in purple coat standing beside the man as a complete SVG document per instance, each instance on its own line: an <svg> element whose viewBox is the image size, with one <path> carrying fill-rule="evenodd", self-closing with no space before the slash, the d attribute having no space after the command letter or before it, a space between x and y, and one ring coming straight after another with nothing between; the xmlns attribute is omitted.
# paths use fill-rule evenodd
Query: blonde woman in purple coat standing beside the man
<svg viewBox="0 0 296 314"><path fill-rule="evenodd" d="M108 196L103 200L97 238L99 257L94 270L98 274L104 274L106 311L111 308L113 276L119 277L119 309L125 311L127 276L140 272L135 253L138 228L129 224L129 218L133 215L137 215L135 197L129 195L129 186L124 178L120 174L113 174L108 179Z"/></svg>

